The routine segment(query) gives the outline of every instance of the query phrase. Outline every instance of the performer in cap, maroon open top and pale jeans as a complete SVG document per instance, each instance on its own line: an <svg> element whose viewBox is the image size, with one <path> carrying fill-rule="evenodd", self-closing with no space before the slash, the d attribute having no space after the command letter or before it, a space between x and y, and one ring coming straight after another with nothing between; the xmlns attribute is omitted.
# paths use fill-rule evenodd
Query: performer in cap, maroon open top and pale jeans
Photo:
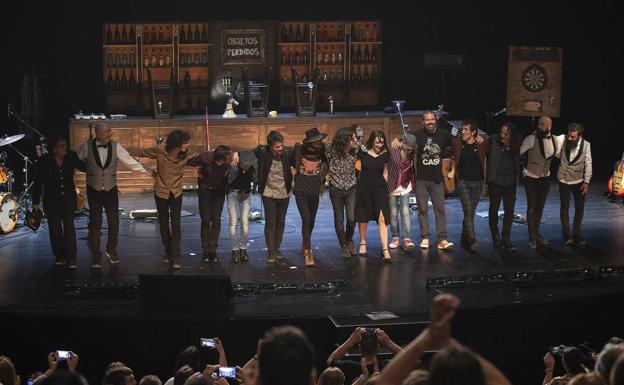
<svg viewBox="0 0 624 385"><path fill-rule="evenodd" d="M390 148L390 162L388 165L388 199L390 201L390 229L392 241L390 249L400 245L399 218L397 200L401 211L401 233L403 235L403 250L414 249L414 242L410 235L409 197L416 188L416 147L418 143L412 134L405 134L400 148Z"/></svg>

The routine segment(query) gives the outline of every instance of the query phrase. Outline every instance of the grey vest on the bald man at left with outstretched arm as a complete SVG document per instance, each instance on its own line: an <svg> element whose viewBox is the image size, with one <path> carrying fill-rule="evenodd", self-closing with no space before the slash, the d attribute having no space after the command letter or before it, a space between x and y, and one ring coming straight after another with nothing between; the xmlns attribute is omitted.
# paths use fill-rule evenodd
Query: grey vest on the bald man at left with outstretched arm
<svg viewBox="0 0 624 385"><path fill-rule="evenodd" d="M113 189L117 186L117 142L109 142L104 164L100 161L95 140L87 143L87 185L98 191Z"/></svg>

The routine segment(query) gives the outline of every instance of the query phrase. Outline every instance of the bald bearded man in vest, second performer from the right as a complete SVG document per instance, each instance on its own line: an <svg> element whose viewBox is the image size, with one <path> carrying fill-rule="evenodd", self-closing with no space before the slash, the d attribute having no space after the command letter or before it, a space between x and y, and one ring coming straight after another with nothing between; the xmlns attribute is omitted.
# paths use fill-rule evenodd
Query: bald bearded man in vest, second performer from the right
<svg viewBox="0 0 624 385"><path fill-rule="evenodd" d="M537 130L524 138L520 147L520 155L527 153L523 174L527 194L529 247L532 249L548 244L539 233L539 225L550 190L550 164L558 152L557 140L551 135L551 129L552 119L542 116L537 123Z"/></svg>

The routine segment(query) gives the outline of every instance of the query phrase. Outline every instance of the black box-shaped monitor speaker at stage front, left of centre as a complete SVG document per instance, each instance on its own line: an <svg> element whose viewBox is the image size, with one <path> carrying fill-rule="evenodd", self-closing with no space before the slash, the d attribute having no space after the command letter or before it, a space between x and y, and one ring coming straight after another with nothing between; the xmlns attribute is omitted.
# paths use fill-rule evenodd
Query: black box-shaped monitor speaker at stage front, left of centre
<svg viewBox="0 0 624 385"><path fill-rule="evenodd" d="M214 315L227 309L233 295L228 276L139 275L143 314Z"/></svg>

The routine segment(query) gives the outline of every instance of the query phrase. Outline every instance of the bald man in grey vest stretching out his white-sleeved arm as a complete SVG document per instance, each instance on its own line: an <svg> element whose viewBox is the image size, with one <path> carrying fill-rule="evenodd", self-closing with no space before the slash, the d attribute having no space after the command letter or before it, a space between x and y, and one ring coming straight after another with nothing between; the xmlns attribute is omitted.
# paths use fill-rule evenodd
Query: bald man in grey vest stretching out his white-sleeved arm
<svg viewBox="0 0 624 385"><path fill-rule="evenodd" d="M100 237L102 230L102 209L106 212L108 240L106 257L111 265L119 263L117 256L117 234L119 233L119 197L117 191L117 161L133 171L151 175L119 143L111 139L111 128L107 123L95 125L95 139L89 139L80 146L78 157L87 166L87 201L89 202L89 249L92 269L102 268Z"/></svg>

